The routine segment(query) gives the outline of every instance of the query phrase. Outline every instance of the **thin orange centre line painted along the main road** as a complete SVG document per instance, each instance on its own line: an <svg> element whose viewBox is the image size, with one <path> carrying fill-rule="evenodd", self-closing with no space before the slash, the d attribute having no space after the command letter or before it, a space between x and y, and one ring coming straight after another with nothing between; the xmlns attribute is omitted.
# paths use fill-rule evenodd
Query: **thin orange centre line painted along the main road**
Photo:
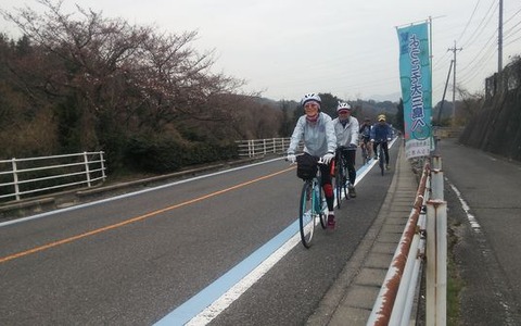
<svg viewBox="0 0 521 326"><path fill-rule="evenodd" d="M191 199L191 200L188 200L188 201L185 201L185 202L181 202L181 203L168 206L168 208L164 208L164 209L153 211L153 212L140 215L140 216L136 216L136 217L132 217L130 220L126 220L126 221L123 221L123 222L119 222L119 223L116 223L116 224L100 227L100 228L97 228L97 229L93 229L93 230L90 230L90 231L87 231L87 233L84 233L84 234L79 234L79 235L76 235L76 236L73 236L73 237L61 239L61 240L58 240L58 241L49 242L47 244L35 247L35 248L29 249L29 250L13 253L13 254L0 258L0 264L12 261L12 260L15 260L17 258L22 258L22 256L31 254L31 253L37 253L37 252L40 252L40 251L43 251L43 250L47 250L47 249L51 249L51 248L54 248L54 247L58 247L58 246L62 246L62 244L65 244L65 243L68 243L68 242L76 241L76 240L79 240L79 239L82 239L82 238L94 236L97 234L101 234L101 233L104 233L104 231L107 231L107 230L111 230L111 229L114 229L114 228L118 228L118 227L122 227L122 226L125 226L125 225L128 225L128 224L131 224L131 223L143 221L145 218L155 216L155 215L161 214L161 213L165 213L165 212L168 212L168 211L181 208L181 206L186 206L186 205L189 205L189 204L192 204L192 203L195 203L195 202L199 202L199 201L202 201L202 200L205 200L205 199L208 199L208 198L212 198L212 197L215 197L215 196L218 196L218 195L221 195L221 193L234 190L234 189L245 187L247 185L251 185L251 184L264 180L264 179L271 178L276 175L285 173L285 172L291 171L293 168L295 168L295 167L292 166L290 168L285 168L285 170L282 170L282 171L279 171L279 172L272 173L272 174L268 174L268 175L265 175L263 177L259 177L259 178L246 181L246 183L242 183L242 184L232 186L230 188L226 188L226 189L215 191L215 192L212 192L212 193L199 197L199 198L194 198L194 199Z"/></svg>

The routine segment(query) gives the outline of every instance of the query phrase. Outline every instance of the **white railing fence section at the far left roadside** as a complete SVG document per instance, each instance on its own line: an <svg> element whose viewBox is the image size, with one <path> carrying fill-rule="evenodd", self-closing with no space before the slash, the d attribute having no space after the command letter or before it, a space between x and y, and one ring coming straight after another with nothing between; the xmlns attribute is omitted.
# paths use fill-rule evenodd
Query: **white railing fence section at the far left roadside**
<svg viewBox="0 0 521 326"><path fill-rule="evenodd" d="M105 180L103 152L0 160L0 201Z"/></svg>

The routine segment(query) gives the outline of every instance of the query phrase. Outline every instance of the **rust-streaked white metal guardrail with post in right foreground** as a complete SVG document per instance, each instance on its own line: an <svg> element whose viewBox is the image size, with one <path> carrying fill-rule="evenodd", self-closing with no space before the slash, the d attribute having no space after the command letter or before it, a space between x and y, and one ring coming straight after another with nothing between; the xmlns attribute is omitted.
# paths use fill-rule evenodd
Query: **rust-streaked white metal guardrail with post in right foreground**
<svg viewBox="0 0 521 326"><path fill-rule="evenodd" d="M367 325L409 325L425 258L425 322L446 325L447 214L441 158L433 156L432 166L423 166L414 208Z"/></svg>

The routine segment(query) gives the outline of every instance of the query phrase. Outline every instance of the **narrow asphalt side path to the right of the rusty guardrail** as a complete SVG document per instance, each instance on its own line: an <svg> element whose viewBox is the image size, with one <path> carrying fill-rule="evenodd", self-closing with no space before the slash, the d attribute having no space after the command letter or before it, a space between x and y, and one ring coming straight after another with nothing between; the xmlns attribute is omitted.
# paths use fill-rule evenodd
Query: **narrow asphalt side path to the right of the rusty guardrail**
<svg viewBox="0 0 521 326"><path fill-rule="evenodd" d="M521 164L440 143L463 325L521 325Z"/></svg>

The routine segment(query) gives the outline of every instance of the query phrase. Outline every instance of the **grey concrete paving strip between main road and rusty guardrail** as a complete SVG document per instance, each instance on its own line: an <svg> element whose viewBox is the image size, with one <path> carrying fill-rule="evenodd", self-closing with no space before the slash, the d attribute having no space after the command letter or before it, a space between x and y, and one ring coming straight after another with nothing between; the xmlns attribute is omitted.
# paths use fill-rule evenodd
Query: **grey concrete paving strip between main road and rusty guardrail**
<svg viewBox="0 0 521 326"><path fill-rule="evenodd" d="M366 325L418 189L399 148L395 174L373 225L307 325Z"/></svg>

